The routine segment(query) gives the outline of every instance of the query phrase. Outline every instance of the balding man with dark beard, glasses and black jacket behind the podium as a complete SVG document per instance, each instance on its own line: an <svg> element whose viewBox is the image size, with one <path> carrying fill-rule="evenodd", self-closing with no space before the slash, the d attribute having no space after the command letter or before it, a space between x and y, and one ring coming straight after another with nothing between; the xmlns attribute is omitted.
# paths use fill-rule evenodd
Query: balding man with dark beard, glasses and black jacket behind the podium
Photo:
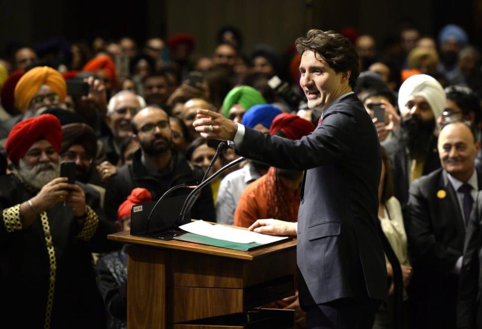
<svg viewBox="0 0 482 329"><path fill-rule="evenodd" d="M133 162L126 164L107 181L104 210L107 218L115 221L117 209L135 188L151 192L152 199L159 199L167 190L179 184L197 185L203 173L190 164L182 154L171 148L172 136L167 113L159 107L148 106L132 120L133 138L141 148L134 153ZM176 190L172 196L186 194ZM205 187L194 203L192 218L216 220L212 192Z"/></svg>

